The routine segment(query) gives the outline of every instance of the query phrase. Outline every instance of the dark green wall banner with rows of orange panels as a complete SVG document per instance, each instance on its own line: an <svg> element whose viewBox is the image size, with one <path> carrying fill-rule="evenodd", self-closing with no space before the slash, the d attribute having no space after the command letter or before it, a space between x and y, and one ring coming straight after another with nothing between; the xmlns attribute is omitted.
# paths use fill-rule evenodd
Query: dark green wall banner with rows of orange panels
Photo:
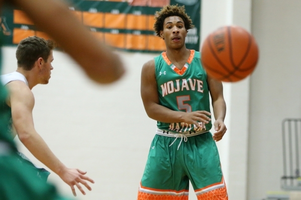
<svg viewBox="0 0 301 200"><path fill-rule="evenodd" d="M126 51L165 51L162 39L155 35L155 13L164 5L185 6L194 28L188 31L186 47L199 51L201 0L69 0L69 9L79 21L106 44ZM5 7L0 18L4 45L18 45L30 36L49 39L39 31L22 10Z"/></svg>

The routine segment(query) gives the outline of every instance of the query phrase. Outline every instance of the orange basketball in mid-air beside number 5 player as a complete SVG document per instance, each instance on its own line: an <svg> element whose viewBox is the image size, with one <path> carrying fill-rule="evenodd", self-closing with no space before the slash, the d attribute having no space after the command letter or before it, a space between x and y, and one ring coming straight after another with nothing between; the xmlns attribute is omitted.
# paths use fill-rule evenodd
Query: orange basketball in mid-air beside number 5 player
<svg viewBox="0 0 301 200"><path fill-rule="evenodd" d="M201 53L207 74L224 82L246 78L258 61L255 39L238 26L222 27L211 33L204 41Z"/></svg>

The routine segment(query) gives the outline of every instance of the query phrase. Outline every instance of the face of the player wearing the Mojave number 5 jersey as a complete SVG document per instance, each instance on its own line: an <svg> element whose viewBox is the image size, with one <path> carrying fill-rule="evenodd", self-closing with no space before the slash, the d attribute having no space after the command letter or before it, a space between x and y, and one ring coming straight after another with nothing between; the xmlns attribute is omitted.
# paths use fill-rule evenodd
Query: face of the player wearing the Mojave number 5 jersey
<svg viewBox="0 0 301 200"><path fill-rule="evenodd" d="M182 18L178 16L165 18L163 31L160 31L160 36L164 39L167 47L173 49L182 48L187 36L187 31L184 27L184 21Z"/></svg>

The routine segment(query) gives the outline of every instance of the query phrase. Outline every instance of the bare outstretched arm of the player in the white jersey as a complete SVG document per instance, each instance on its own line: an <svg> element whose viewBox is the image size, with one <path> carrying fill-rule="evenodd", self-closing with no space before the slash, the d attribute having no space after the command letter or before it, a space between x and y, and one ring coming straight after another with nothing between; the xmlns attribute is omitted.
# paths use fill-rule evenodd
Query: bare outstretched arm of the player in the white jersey
<svg viewBox="0 0 301 200"><path fill-rule="evenodd" d="M21 81L10 82L7 84L7 87L10 91L9 103L12 108L13 123L20 141L38 160L69 184L74 195L76 195L74 185L85 194L78 184L79 182L91 190L91 187L85 180L90 182L93 182L93 180L84 176L85 172L83 171L67 168L53 154L46 142L35 130L32 116L35 99L31 90Z"/></svg>

